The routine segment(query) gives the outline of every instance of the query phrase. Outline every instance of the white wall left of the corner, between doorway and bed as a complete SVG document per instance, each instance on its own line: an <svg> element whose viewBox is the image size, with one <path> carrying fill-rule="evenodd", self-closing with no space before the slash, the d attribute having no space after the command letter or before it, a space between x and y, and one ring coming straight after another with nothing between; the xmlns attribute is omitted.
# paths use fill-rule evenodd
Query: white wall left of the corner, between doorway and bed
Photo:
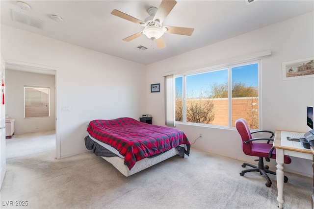
<svg viewBox="0 0 314 209"><path fill-rule="evenodd" d="M144 65L3 24L1 55L10 62L56 69L60 157L86 151L84 137L90 120L138 119L145 112ZM61 112L61 106L70 106L71 111Z"/></svg>

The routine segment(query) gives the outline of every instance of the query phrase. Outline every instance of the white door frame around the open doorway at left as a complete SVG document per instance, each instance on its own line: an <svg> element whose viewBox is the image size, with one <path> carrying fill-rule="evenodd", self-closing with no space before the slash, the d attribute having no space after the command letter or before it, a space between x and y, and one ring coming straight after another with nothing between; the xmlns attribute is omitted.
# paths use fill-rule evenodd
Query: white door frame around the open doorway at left
<svg viewBox="0 0 314 209"><path fill-rule="evenodd" d="M61 149L60 149L60 138L58 134L59 130L59 121L57 118L59 118L59 111L58 111L58 88L57 88L57 80L58 80L58 68L54 66L46 66L46 65L40 65L35 63L27 63L17 60L4 60L5 62L5 68L7 66L14 66L17 68L17 70L20 71L26 71L26 72L34 72L34 73L44 73L44 74L52 74L54 75L54 86L55 86L55 158L60 159L61 157Z"/></svg>

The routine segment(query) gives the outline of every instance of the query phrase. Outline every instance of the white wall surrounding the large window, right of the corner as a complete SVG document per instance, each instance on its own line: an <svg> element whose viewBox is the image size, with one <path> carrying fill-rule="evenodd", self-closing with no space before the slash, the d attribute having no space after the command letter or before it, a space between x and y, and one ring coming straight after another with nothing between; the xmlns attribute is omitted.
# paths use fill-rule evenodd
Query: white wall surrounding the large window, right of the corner
<svg viewBox="0 0 314 209"><path fill-rule="evenodd" d="M214 33L214 31L209 31ZM210 46L199 48L147 66L147 85L160 83L160 93L147 94L147 113L155 124L164 125L163 73L184 72L224 64L235 57L271 50L271 56L262 58L262 129L293 130L306 132L306 106L314 105L314 78L282 79L282 63L314 56L314 13L308 13L288 21L264 27ZM235 129L218 129L177 124L192 148L211 153L253 161L242 153L240 137ZM275 160L271 166L275 167ZM309 160L293 158L285 166L292 172L312 175Z"/></svg>

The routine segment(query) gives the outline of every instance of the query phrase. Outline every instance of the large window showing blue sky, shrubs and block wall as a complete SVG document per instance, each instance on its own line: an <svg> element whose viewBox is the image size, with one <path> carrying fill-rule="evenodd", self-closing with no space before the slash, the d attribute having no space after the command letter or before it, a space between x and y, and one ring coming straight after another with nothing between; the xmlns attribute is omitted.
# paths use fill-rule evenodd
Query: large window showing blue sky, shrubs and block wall
<svg viewBox="0 0 314 209"><path fill-rule="evenodd" d="M176 121L233 127L244 118L259 128L260 61L177 75Z"/></svg>

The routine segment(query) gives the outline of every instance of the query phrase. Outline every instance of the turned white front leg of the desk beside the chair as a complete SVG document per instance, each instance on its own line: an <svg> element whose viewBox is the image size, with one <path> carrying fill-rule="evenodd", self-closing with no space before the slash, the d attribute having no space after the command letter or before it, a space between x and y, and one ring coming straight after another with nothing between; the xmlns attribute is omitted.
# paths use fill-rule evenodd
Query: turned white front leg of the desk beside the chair
<svg viewBox="0 0 314 209"><path fill-rule="evenodd" d="M276 177L277 177L277 192L278 197L277 201L279 204L279 208L283 208L284 204L284 150L276 148L276 162L277 162L277 170L276 170Z"/></svg>

